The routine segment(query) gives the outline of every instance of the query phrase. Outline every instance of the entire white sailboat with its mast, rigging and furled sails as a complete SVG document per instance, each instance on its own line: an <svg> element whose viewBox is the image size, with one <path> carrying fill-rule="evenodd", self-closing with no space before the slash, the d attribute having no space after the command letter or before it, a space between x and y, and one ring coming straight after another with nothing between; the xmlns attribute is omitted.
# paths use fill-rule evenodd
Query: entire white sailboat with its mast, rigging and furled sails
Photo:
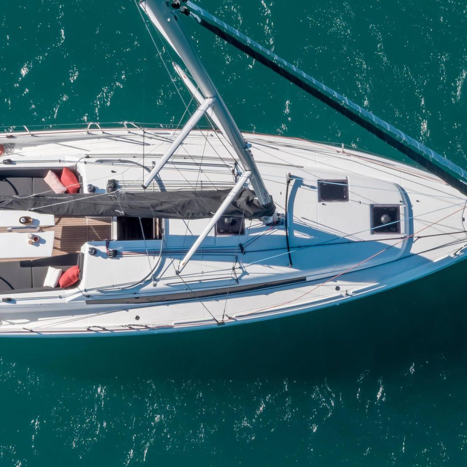
<svg viewBox="0 0 467 467"><path fill-rule="evenodd" d="M463 169L191 2L148 0L139 11L178 54L178 84L198 108L179 129L126 122L0 136L1 336L138 335L279 318L465 258ZM241 133L185 20L417 167ZM213 127L202 129L201 119Z"/></svg>

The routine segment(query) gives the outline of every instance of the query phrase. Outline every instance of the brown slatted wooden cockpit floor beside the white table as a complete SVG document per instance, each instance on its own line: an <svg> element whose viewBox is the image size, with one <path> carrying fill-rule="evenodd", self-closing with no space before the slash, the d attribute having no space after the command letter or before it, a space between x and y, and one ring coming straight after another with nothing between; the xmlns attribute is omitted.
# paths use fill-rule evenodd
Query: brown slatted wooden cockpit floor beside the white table
<svg viewBox="0 0 467 467"><path fill-rule="evenodd" d="M55 233L52 256L57 256L79 252L86 242L110 239L111 221L111 217L55 217L53 227L44 227L40 231ZM7 232L7 229L1 228L0 232ZM11 259L0 259L0 261L11 261Z"/></svg>

